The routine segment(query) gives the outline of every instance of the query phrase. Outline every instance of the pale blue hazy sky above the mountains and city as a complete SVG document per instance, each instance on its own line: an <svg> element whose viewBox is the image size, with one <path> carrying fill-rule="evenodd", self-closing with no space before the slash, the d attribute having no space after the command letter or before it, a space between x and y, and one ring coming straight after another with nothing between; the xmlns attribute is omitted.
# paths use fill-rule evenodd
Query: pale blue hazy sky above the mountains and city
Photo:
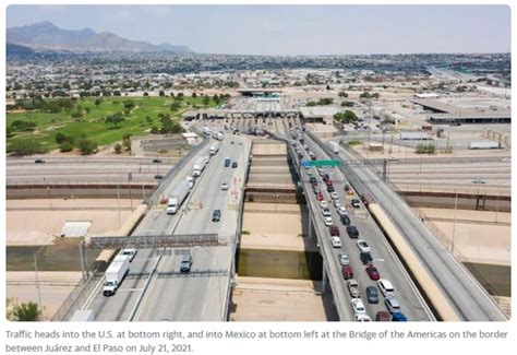
<svg viewBox="0 0 517 355"><path fill-rule="evenodd" d="M508 52L506 5L10 5L7 25L50 21L197 52Z"/></svg>

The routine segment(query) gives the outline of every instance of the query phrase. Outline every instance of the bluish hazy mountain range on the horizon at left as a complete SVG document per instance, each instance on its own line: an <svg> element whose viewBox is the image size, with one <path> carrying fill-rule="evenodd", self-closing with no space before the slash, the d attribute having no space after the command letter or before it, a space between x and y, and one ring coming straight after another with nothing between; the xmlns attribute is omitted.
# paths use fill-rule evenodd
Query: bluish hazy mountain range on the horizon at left
<svg viewBox="0 0 517 355"><path fill-rule="evenodd" d="M153 45L143 40L122 38L110 32L95 33L93 29L61 29L50 22L40 22L22 27L9 27L7 43L35 50L132 51L132 52L190 52L185 46L169 44Z"/></svg>

